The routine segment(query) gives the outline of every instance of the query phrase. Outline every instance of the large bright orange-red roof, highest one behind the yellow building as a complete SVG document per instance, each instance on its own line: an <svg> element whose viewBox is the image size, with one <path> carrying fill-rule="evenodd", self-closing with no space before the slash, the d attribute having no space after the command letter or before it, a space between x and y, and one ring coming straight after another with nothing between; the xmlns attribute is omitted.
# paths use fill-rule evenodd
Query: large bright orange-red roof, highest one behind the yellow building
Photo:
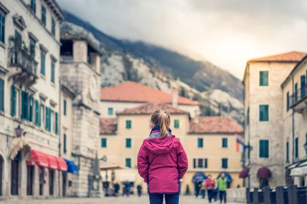
<svg viewBox="0 0 307 204"><path fill-rule="evenodd" d="M133 101L141 103L158 101L160 103L171 104L172 94L136 82L127 81L122 84L101 89L100 100ZM185 97L179 97L178 104L196 105L199 104L199 102Z"/></svg>

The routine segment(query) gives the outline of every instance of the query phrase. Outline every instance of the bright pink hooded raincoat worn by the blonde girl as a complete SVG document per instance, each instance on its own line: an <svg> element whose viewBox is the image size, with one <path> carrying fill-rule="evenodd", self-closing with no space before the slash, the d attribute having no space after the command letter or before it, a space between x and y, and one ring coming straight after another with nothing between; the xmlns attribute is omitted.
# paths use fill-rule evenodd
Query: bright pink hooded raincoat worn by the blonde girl
<svg viewBox="0 0 307 204"><path fill-rule="evenodd" d="M188 159L179 139L170 133L160 138L152 131L138 154L138 170L148 184L148 193L179 193L180 182L188 169Z"/></svg>

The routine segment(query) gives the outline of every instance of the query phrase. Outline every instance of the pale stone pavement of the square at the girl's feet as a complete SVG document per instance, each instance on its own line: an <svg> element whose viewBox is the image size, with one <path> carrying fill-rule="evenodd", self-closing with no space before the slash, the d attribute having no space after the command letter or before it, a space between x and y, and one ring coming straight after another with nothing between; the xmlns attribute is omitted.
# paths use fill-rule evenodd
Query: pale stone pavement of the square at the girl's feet
<svg viewBox="0 0 307 204"><path fill-rule="evenodd" d="M0 201L1 204L149 204L147 195L141 198L130 197L105 197L105 198L64 198L64 199L46 199L46 200L10 200ZM180 204L207 204L207 199L195 198L193 196L181 196ZM220 203L219 201L213 203ZM234 204L228 202L229 204Z"/></svg>

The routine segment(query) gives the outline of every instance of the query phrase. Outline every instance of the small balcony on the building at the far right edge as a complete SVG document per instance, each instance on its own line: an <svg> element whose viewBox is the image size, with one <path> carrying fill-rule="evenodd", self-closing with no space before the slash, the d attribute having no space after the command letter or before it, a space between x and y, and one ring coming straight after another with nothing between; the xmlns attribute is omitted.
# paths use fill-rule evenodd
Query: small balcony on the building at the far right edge
<svg viewBox="0 0 307 204"><path fill-rule="evenodd" d="M290 97L290 108L293 111L302 113L303 109L307 106L307 85L298 89Z"/></svg>

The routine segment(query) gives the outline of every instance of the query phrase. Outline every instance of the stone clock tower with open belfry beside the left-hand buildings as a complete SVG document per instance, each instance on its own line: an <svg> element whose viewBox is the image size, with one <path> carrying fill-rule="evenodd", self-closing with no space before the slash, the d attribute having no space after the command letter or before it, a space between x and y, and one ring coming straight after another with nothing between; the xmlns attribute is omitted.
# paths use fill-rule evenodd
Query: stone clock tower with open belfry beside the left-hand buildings
<svg viewBox="0 0 307 204"><path fill-rule="evenodd" d="M63 23L61 44L61 81L76 94L71 159L78 166L78 174L72 176L72 195L99 196L102 186L94 182L93 173L99 138L100 43Z"/></svg>

